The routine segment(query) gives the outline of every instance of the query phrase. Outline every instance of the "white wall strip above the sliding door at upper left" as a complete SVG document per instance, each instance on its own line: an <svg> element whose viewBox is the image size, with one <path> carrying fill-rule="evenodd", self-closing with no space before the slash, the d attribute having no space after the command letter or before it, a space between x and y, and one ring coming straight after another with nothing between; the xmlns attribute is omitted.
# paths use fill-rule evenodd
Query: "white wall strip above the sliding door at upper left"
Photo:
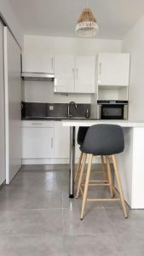
<svg viewBox="0 0 144 256"><path fill-rule="evenodd" d="M23 45L23 34L19 26L18 20L14 15L13 9L10 6L9 0L0 0L0 15L3 16L9 25L11 31L14 33L14 37L18 40L20 46Z"/></svg>

